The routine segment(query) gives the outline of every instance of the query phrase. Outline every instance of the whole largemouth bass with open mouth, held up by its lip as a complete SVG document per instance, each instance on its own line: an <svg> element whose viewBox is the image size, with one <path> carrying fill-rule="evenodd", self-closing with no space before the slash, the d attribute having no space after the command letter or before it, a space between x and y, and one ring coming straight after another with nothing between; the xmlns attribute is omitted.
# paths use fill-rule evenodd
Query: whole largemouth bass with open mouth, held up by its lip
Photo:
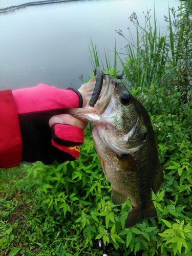
<svg viewBox="0 0 192 256"><path fill-rule="evenodd" d="M103 74L100 96L89 106L96 77L82 84L81 95L87 100L83 108L69 114L94 124L92 138L105 178L111 183L111 201L122 205L131 200L125 221L130 228L144 219L157 216L151 198L163 182L158 143L150 115L121 80Z"/></svg>

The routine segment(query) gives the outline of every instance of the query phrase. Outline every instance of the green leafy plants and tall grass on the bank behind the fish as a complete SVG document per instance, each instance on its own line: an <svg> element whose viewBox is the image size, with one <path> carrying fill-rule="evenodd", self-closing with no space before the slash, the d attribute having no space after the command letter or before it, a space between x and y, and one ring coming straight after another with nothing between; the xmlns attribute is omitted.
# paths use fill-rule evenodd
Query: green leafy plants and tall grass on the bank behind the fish
<svg viewBox="0 0 192 256"><path fill-rule="evenodd" d="M89 47L93 70L116 74L119 58L124 81L151 115L164 170L163 186L153 194L157 218L124 229L131 202L112 205L89 125L78 161L1 169L0 255L101 255L98 239L109 243L109 255L192 255L190 7L191 0L169 9L166 35L155 20L152 28L150 12L144 27L131 15L137 38L118 31L127 46L124 52L114 47L113 65L107 51L98 61L92 40Z"/></svg>

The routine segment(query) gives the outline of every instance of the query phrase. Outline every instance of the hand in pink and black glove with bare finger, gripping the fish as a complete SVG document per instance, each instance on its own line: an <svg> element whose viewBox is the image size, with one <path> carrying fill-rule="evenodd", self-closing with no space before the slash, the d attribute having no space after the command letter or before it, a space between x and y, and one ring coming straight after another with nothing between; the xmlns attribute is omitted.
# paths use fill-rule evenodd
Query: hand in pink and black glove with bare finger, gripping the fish
<svg viewBox="0 0 192 256"><path fill-rule="evenodd" d="M87 123L65 114L82 106L75 89L62 90L39 84L13 91L23 140L23 161L51 164L75 160ZM51 129L50 129L51 127Z"/></svg>

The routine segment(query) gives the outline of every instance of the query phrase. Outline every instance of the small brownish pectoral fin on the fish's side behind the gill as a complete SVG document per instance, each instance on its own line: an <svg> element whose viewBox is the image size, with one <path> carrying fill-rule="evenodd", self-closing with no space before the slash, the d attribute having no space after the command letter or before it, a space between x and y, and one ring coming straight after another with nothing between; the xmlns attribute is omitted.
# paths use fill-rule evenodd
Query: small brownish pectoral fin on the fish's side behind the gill
<svg viewBox="0 0 192 256"><path fill-rule="evenodd" d="M135 159L130 154L116 154L119 165L123 172L136 172L137 166Z"/></svg>

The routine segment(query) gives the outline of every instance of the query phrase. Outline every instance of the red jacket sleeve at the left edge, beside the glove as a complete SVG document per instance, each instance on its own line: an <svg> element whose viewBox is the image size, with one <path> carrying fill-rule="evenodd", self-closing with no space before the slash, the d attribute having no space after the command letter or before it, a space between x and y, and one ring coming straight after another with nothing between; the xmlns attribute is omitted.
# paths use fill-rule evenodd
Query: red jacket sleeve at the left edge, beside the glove
<svg viewBox="0 0 192 256"><path fill-rule="evenodd" d="M22 136L17 107L11 90L0 92L0 168L19 165L22 160Z"/></svg>

